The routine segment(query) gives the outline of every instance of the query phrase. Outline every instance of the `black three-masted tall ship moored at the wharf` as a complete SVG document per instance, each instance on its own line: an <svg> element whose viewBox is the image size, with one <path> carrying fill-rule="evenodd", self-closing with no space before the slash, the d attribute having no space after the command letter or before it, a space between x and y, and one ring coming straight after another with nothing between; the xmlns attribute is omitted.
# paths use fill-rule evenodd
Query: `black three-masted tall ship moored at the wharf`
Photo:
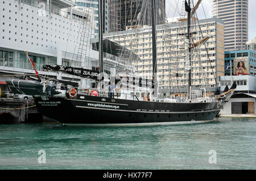
<svg viewBox="0 0 256 181"><path fill-rule="evenodd" d="M146 1L144 1L146 2ZM99 52L98 67L89 69L89 66L64 66L43 65L43 69L49 72L69 74L94 80L94 83L82 87L76 81L47 77L47 75L24 74L17 78L10 78L6 82L16 94L33 95L36 107L42 115L55 119L63 125L85 126L120 126L120 125L168 125L206 123L212 121L232 96L236 84L226 89L222 94L218 89L212 95L202 89L204 96L193 94L191 78L191 56L193 49L204 44L209 37L192 42L194 33L191 31L191 15L195 14L200 1L191 9L190 0L184 1L187 18L181 22L187 22L187 31L180 33L185 38L184 48L185 68L187 79L187 91L185 94L170 94L162 96L158 89L157 72L157 42L155 15L155 1L151 1L151 32L152 32L152 77L141 78L135 74L133 66L127 62L139 59L129 47L117 44L109 39L104 39L102 27L102 0L99 1L99 33L98 40L94 39L93 49ZM137 19L143 13L138 14ZM81 37L85 37L86 23L81 23ZM84 24L84 25L83 25ZM134 28L134 27L131 27ZM88 44L86 42L86 44ZM86 57L82 49L86 49L84 41L80 42L80 56ZM131 41L132 44L132 41ZM33 65L33 61L26 52ZM79 53L77 53L79 55ZM108 74L104 71L104 56L118 60L125 65L124 72ZM108 56L108 57L106 57ZM79 60L80 59L80 60ZM111 62L111 61L109 61ZM108 66L108 64L105 64ZM129 71L130 70L130 71ZM127 73L129 71L129 73ZM179 77L179 73L175 73ZM217 83L217 82L216 82ZM197 91L198 92L198 91Z"/></svg>

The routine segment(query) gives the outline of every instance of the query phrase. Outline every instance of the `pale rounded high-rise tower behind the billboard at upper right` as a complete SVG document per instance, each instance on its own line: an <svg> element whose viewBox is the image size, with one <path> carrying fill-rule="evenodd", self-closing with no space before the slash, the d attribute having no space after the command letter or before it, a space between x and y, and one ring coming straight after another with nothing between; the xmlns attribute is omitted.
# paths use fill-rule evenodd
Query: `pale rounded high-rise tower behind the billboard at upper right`
<svg viewBox="0 0 256 181"><path fill-rule="evenodd" d="M212 0L213 17L224 20L225 50L242 49L248 41L248 0Z"/></svg>

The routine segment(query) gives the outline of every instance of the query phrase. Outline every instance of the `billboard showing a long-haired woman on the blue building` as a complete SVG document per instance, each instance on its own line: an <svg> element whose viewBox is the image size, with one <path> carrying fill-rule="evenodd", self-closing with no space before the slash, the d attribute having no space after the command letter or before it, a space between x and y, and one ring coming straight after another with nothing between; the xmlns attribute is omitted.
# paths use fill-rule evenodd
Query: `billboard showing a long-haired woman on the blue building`
<svg viewBox="0 0 256 181"><path fill-rule="evenodd" d="M249 74L249 57L234 58L234 75Z"/></svg>

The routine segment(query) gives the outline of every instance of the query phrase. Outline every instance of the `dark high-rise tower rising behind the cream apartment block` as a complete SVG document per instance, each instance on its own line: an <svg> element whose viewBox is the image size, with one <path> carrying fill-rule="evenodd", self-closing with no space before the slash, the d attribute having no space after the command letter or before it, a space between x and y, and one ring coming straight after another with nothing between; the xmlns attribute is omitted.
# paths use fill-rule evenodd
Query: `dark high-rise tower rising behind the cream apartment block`
<svg viewBox="0 0 256 181"><path fill-rule="evenodd" d="M137 25L151 26L151 1L143 0L109 0L111 13L111 32L127 30ZM166 1L156 1L156 24L165 20Z"/></svg>

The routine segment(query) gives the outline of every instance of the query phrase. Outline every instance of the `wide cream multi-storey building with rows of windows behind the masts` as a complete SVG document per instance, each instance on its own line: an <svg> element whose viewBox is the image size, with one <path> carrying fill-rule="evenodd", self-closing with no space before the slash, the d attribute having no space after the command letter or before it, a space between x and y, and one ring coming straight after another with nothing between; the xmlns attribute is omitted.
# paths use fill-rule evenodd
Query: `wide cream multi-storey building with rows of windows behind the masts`
<svg viewBox="0 0 256 181"><path fill-rule="evenodd" d="M195 24L193 22L192 24ZM224 22L218 18L199 20L199 26L192 26L192 32L198 39L209 36L206 43L209 53L210 62L208 61L207 51L204 45L201 45L199 53L192 56L192 86L200 89L203 82L206 82L212 90L216 90L216 83L220 82L220 76L224 75ZM170 90L174 83L180 87L188 85L188 77L184 72L185 54L184 54L184 37L179 36L180 30L187 31L187 23L169 23L156 26L157 36L157 68L159 89ZM152 77L152 33L151 27L143 27L138 30L127 30L121 32L105 33L104 37L115 41L121 45L132 45L134 52L141 58L138 62L133 62L137 68L137 74L142 78ZM170 56L171 53L171 56ZM199 56L200 55L200 56ZM199 59L201 61L199 61ZM213 69L210 68L212 65ZM200 66L203 73L200 73ZM179 73L177 82L171 82L170 79Z"/></svg>

